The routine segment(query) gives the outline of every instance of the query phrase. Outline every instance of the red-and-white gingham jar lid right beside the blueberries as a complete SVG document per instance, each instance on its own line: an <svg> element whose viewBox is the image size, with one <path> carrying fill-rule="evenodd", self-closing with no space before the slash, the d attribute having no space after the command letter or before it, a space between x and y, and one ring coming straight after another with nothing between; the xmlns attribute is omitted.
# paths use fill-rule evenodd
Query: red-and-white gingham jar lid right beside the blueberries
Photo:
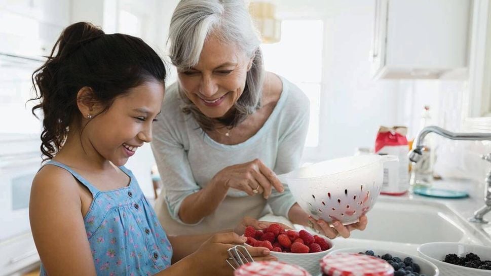
<svg viewBox="0 0 491 276"><path fill-rule="evenodd" d="M357 253L335 253L320 260L322 271L329 276L393 276L388 262Z"/></svg>

